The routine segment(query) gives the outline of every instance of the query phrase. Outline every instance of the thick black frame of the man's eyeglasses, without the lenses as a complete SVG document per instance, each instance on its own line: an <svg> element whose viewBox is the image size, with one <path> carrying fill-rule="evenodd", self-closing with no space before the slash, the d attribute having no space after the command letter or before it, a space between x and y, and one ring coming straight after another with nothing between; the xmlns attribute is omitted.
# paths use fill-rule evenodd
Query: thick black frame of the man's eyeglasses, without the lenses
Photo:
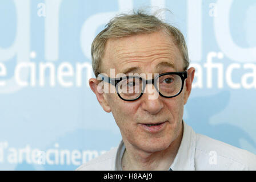
<svg viewBox="0 0 256 182"><path fill-rule="evenodd" d="M154 83L155 83L155 80L156 80L157 78L159 78L159 77L161 77L161 76L164 76L164 75L178 75L179 77L181 77L181 80L182 80L181 90L179 90L179 92L178 92L177 94L175 94L174 96L164 96L163 94L161 94L161 92L159 92L157 86L155 86L155 84L154 84ZM172 97L178 96L178 95L182 92L182 90L183 90L184 82L185 82L185 80L186 80L186 78L187 78L187 71L185 71L185 72L166 72L166 73L162 73L162 74L160 74L160 75L155 76L155 77L154 77L153 79L151 79L151 80L145 80L144 78L139 77L139 76L135 76L135 75L134 75L134 76L119 77L119 78L110 78L110 77L107 77L107 76L102 75L102 74L99 74L98 76L101 78L102 81L105 81L105 82L108 82L108 83L111 84L111 85L114 85L114 86L115 86L115 90L117 90L118 97L121 98L123 101L135 101L135 100L138 100L138 99L143 95L143 92L144 92L144 90L145 90L145 88L146 88L146 85L147 85L148 83L153 84L154 87L155 87L155 89L156 89L157 92L159 93L159 95L162 96L162 97L165 97L165 98L172 98ZM133 100L126 100L125 98L122 98L122 97L120 96L119 92L118 92L117 84L118 84L120 81L122 81L123 79L127 79L127 78L139 78L139 79L142 81L142 83L143 83L143 88L142 88L141 94L140 94L137 98L134 98Z"/></svg>

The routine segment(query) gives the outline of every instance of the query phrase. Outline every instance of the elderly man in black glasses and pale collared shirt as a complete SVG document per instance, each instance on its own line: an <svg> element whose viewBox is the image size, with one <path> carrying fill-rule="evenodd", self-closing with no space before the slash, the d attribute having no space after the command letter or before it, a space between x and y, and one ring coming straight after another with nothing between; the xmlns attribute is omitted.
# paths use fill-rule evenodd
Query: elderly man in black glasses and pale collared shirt
<svg viewBox="0 0 256 182"><path fill-rule="evenodd" d="M77 170L256 169L254 154L196 134L182 120L195 69L177 28L153 15L122 14L96 36L91 54L97 79L90 88L122 141Z"/></svg>

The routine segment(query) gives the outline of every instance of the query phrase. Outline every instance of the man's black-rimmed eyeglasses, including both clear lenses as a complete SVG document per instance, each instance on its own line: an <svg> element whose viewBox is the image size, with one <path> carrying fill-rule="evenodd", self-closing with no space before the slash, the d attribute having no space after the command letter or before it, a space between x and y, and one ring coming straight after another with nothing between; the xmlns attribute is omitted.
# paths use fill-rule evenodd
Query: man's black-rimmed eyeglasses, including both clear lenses
<svg viewBox="0 0 256 182"><path fill-rule="evenodd" d="M171 98L178 96L183 89L187 72L167 72L155 76L154 79L145 80L139 76L125 76L110 78L98 75L102 81L115 86L118 96L124 101L135 101L142 96L147 84L153 84L160 96Z"/></svg>

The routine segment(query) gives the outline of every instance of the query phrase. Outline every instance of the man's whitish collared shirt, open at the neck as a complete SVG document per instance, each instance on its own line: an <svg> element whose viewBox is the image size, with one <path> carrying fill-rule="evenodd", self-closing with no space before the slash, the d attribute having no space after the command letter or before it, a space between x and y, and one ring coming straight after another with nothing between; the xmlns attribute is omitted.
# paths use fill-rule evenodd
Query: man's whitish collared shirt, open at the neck
<svg viewBox="0 0 256 182"><path fill-rule="evenodd" d="M124 151L125 145L121 141L118 147L82 164L77 170L121 170ZM256 155L205 135L196 134L183 122L181 145L170 169L173 171L256 170Z"/></svg>

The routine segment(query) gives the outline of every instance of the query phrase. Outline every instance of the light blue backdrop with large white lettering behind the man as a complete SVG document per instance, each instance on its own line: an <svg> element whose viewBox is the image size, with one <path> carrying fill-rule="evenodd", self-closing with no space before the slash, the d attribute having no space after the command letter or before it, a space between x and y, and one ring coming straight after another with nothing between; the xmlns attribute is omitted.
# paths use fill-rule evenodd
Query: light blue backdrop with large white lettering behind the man
<svg viewBox="0 0 256 182"><path fill-rule="evenodd" d="M160 17L185 35L196 74L183 119L256 154L254 0L1 0L0 169L73 170L118 145L87 84L90 45L115 14L143 7L171 10Z"/></svg>

